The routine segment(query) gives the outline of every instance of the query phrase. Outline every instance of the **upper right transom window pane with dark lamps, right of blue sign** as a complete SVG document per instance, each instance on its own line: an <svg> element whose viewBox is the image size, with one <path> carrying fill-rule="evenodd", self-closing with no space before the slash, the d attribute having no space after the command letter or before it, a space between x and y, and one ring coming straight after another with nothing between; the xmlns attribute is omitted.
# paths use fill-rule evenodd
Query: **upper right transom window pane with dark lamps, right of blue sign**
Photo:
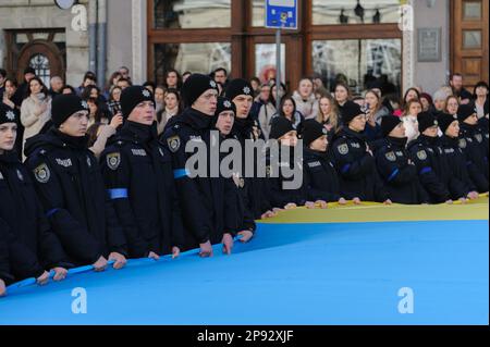
<svg viewBox="0 0 490 347"><path fill-rule="evenodd" d="M311 0L313 24L397 23L400 0Z"/></svg>

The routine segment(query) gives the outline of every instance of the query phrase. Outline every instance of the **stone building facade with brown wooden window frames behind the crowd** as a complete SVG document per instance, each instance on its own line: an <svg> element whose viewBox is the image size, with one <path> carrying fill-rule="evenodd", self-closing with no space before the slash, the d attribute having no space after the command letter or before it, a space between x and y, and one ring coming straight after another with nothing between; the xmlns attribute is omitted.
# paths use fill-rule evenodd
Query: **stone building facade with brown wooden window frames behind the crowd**
<svg viewBox="0 0 490 347"><path fill-rule="evenodd" d="M461 72L469 87L489 79L488 0L297 2L298 28L283 30L281 47L282 80L291 87L313 73L328 87L345 79L355 91L375 77L400 92L411 86L433 92L451 72ZM170 67L208 73L224 66L232 76L260 79L275 73L275 32L264 25L264 0L79 4L85 29L73 23L78 13L53 1L0 0L0 64L11 74L30 64L72 85L87 70L107 77L122 65L136 83L162 83Z"/></svg>

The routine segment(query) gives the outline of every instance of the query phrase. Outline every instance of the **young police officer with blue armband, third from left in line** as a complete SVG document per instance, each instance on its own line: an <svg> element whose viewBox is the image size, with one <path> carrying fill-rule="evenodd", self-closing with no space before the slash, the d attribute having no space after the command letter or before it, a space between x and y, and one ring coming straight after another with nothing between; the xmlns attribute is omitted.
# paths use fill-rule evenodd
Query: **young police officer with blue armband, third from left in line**
<svg viewBox="0 0 490 347"><path fill-rule="evenodd" d="M102 152L108 196L124 230L130 258L177 257L183 225L172 157L158 139L152 94L133 86L121 95L122 128Z"/></svg>

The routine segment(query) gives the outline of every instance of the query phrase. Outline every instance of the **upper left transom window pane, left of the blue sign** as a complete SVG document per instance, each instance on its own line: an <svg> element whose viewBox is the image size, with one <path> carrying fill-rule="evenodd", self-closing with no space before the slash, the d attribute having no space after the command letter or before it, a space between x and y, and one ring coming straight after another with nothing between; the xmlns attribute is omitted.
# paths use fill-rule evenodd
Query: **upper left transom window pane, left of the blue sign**
<svg viewBox="0 0 490 347"><path fill-rule="evenodd" d="M155 0L155 28L231 26L231 0Z"/></svg>

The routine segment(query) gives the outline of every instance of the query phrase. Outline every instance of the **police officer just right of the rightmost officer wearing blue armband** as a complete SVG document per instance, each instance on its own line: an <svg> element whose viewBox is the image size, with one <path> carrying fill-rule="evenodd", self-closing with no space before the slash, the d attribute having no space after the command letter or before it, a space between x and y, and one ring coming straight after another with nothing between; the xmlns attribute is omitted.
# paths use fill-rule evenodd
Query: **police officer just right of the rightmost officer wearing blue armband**
<svg viewBox="0 0 490 347"><path fill-rule="evenodd" d="M478 193L469 177L467 159L460 148L460 124L456 114L438 114L439 127L442 132L441 148L452 173L452 189L457 191L460 200L477 199Z"/></svg>

